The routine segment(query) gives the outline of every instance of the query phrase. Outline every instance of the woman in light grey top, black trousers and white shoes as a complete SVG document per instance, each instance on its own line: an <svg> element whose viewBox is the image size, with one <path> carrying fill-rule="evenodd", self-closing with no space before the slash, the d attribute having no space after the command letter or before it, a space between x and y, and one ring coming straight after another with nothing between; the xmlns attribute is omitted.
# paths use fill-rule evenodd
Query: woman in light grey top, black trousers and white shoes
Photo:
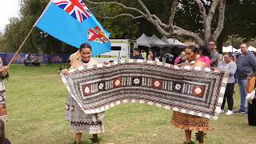
<svg viewBox="0 0 256 144"><path fill-rule="evenodd" d="M233 105L234 105L234 73L237 70L237 65L235 62L231 59L232 54L224 54L224 61L220 62L218 64L218 70L228 70L230 72L229 80L226 85L226 91L224 94L223 102L222 102L222 113L224 112L225 103L227 101L228 110L226 112L226 115L233 114Z"/></svg>

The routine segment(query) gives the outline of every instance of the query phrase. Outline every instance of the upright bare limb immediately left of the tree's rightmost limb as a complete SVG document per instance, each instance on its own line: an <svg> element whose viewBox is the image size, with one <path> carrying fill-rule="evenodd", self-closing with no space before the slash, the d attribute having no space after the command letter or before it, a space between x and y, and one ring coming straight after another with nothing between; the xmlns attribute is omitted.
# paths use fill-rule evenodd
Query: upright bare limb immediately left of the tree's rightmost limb
<svg viewBox="0 0 256 144"><path fill-rule="evenodd" d="M214 13L215 13L215 10L219 4L221 0L214 0L210 6L210 10L209 10L209 13L206 17L206 22L204 23L205 24L205 42L207 42L210 38L210 35L211 35L211 22L213 20L213 17L214 17Z"/></svg>

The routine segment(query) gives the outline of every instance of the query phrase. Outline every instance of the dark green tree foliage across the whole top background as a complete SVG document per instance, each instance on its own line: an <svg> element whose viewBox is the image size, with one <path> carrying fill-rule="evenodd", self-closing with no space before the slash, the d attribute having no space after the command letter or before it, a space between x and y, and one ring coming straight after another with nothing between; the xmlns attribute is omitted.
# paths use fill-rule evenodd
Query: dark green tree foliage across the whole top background
<svg viewBox="0 0 256 144"><path fill-rule="evenodd" d="M20 0L21 9L19 18L10 18L10 24L6 26L5 34L0 34L0 51L2 52L15 52L21 45L22 41L29 33L30 29L34 25L34 22L38 19L42 10L46 7L50 0ZM102 2L102 0L94 0ZM104 2L111 2L113 0L105 0ZM206 6L206 12L210 9L210 2L213 0L206 0L204 6ZM138 8L142 10L137 1L128 0L116 0L122 4L130 7ZM170 6L173 0L143 0L145 5L150 10L151 14L156 14L158 18L168 24L170 17ZM190 30L203 36L203 23L202 16L198 10L198 6L194 1L180 0L180 6L176 16L174 18L174 24L182 27L185 30ZM133 14L138 16L139 14L134 11L124 10L121 6L116 5L102 5L95 6L86 2L86 5L93 12L94 16L98 18L98 21L102 23L102 26L108 30L111 35L110 38L129 38L136 39L142 33L147 35L156 34L159 38L162 35L158 33L154 26L152 26L146 19L132 19L130 17L119 17L114 19L103 19L98 16L115 16L117 14ZM221 38L228 38L228 36L238 36L250 40L255 38L256 35L256 18L254 15L256 5L254 0L246 1L226 1L226 18L223 33ZM214 14L214 20L212 22L213 30L218 23L218 10ZM42 53L44 51L47 54L56 53L70 53L76 49L72 46L59 42L57 39L47 37L45 39L40 38L40 30L33 30L32 34L22 48L22 52ZM223 42L223 40L221 41ZM43 49L43 44L45 49Z"/></svg>

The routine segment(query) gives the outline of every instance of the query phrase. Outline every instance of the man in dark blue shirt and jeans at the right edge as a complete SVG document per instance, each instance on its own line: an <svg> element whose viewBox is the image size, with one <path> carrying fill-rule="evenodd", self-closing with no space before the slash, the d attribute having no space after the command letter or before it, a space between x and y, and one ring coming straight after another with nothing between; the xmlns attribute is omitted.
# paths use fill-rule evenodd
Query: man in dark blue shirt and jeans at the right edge
<svg viewBox="0 0 256 144"><path fill-rule="evenodd" d="M242 43L240 46L242 54L240 54L236 60L238 66L237 77L238 85L241 94L240 108L236 111L237 114L248 114L246 109L246 87L247 87L247 77L249 74L256 71L256 57L250 51L248 51L248 46L246 43Z"/></svg>

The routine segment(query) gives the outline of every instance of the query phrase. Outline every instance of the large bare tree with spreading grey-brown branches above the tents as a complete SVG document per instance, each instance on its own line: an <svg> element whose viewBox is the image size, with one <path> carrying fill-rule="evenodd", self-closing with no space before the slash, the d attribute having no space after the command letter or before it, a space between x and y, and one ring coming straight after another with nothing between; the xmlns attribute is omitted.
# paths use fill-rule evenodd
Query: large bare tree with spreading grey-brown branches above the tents
<svg viewBox="0 0 256 144"><path fill-rule="evenodd" d="M214 38L214 40L217 40L219 34L222 32L223 24L224 24L224 14L225 14L225 6L226 6L226 0L214 0L214 1L203 1L203 0L194 0L190 1L190 5L197 4L198 10L201 14L201 20L199 22L202 22L202 29L201 32L202 35L198 34L197 32L192 32L190 30L185 30L181 26L175 25L174 18L177 11L184 11L184 6L182 6L182 2L178 0L174 0L172 5L169 7L170 9L170 17L168 19L168 22L164 22L162 19L160 19L156 14L151 14L149 8L145 5L142 0L137 0L136 6L128 6L126 3L121 2L111 2L111 1L86 1L90 4L94 4L96 6L100 5L110 5L110 6L120 6L125 10L128 10L128 13L122 13L117 15L111 15L111 16L101 16L102 18L118 18L122 16L129 16L130 18L146 18L148 22L150 22L156 30L163 36L166 36L166 38L177 38L180 36L186 36L190 38L194 38L194 40L199 44L202 45L203 43L206 43L210 37ZM210 9L208 10L207 8ZM214 23L214 14L215 11L218 8L218 20L217 20L217 26L214 29L213 23ZM132 11L133 13L130 13ZM167 24L166 24L167 23Z"/></svg>

